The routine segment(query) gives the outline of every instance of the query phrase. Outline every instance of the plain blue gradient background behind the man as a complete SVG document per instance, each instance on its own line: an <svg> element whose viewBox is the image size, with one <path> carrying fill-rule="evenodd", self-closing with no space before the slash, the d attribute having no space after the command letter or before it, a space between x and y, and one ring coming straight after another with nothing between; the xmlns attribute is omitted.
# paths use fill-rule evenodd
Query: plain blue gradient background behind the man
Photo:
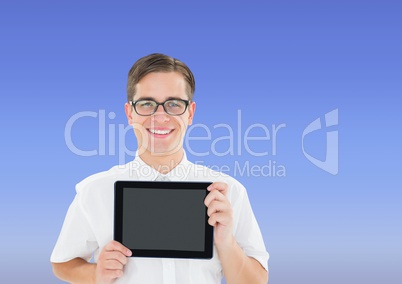
<svg viewBox="0 0 402 284"><path fill-rule="evenodd" d="M248 188L271 255L271 284L402 283L400 2L4 2L2 283L61 283L49 257L74 186L119 163L108 141L105 155L72 153L66 123L76 113L104 110L116 114L106 116L108 127L125 125L127 72L152 52L193 70L195 123L205 123L213 139L228 135L214 130L220 123L233 126L237 137L238 110L243 134L255 123L286 124L276 155L272 141L250 142L254 151L269 152L263 157L244 145L241 155L189 155L228 165L232 174L235 161L286 168L285 177L236 176ZM333 109L339 110L337 175L314 166L301 148L305 127ZM325 131L305 141L306 151L321 159ZM72 138L81 149L97 149L98 120L79 120ZM131 132L125 140L135 148ZM211 143L191 145L208 151ZM225 141L217 146L227 148Z"/></svg>

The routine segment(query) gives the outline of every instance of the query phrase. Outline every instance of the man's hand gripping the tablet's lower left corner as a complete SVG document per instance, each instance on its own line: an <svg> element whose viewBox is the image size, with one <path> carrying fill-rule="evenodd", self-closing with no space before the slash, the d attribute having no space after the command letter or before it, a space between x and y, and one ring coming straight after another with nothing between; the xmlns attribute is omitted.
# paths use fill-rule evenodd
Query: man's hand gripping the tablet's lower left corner
<svg viewBox="0 0 402 284"><path fill-rule="evenodd" d="M113 283L123 276L123 269L131 251L121 243L111 241L101 251L96 264L95 278L97 284Z"/></svg>

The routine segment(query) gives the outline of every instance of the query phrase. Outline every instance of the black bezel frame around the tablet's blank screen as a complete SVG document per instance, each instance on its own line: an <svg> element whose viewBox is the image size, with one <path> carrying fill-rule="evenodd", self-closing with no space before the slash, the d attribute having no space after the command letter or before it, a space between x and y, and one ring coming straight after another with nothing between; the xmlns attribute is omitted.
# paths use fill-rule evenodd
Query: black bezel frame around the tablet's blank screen
<svg viewBox="0 0 402 284"><path fill-rule="evenodd" d="M116 181L114 185L114 240L123 242L123 199L124 190L130 189L175 189L175 190L204 190L208 194L207 187L212 182L188 182L188 181ZM205 207L205 236L203 251L183 251L169 249L129 249L133 257L156 258L196 258L211 259L213 256L213 227L208 224L207 207Z"/></svg>

